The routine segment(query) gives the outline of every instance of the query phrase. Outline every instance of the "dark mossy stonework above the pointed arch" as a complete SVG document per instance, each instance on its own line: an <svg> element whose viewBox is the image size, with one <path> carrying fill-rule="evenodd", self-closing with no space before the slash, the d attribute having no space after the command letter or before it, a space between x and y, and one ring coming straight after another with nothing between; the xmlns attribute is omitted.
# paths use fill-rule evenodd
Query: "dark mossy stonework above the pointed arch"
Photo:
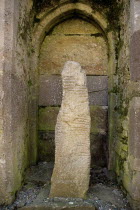
<svg viewBox="0 0 140 210"><path fill-rule="evenodd" d="M83 0L70 0L69 3L84 2ZM59 6L61 0L34 0L34 9L36 13L40 13L46 8L53 8ZM63 2L62 2L63 3ZM110 30L120 30L119 18L123 10L123 1L120 3L117 0L88 0L86 3L90 4L95 10L104 13L109 22L107 32ZM75 16L77 16L75 14ZM38 20L37 20L38 21Z"/></svg>

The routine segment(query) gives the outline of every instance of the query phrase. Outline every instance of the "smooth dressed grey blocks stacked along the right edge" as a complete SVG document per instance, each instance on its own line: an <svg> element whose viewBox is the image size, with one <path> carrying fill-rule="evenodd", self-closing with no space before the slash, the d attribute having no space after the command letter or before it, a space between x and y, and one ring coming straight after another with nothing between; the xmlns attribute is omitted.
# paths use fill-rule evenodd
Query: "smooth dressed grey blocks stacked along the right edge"
<svg viewBox="0 0 140 210"><path fill-rule="evenodd" d="M130 84L129 84L129 131L128 131L128 161L131 176L128 191L133 208L140 206L140 2L131 1L130 30Z"/></svg>

